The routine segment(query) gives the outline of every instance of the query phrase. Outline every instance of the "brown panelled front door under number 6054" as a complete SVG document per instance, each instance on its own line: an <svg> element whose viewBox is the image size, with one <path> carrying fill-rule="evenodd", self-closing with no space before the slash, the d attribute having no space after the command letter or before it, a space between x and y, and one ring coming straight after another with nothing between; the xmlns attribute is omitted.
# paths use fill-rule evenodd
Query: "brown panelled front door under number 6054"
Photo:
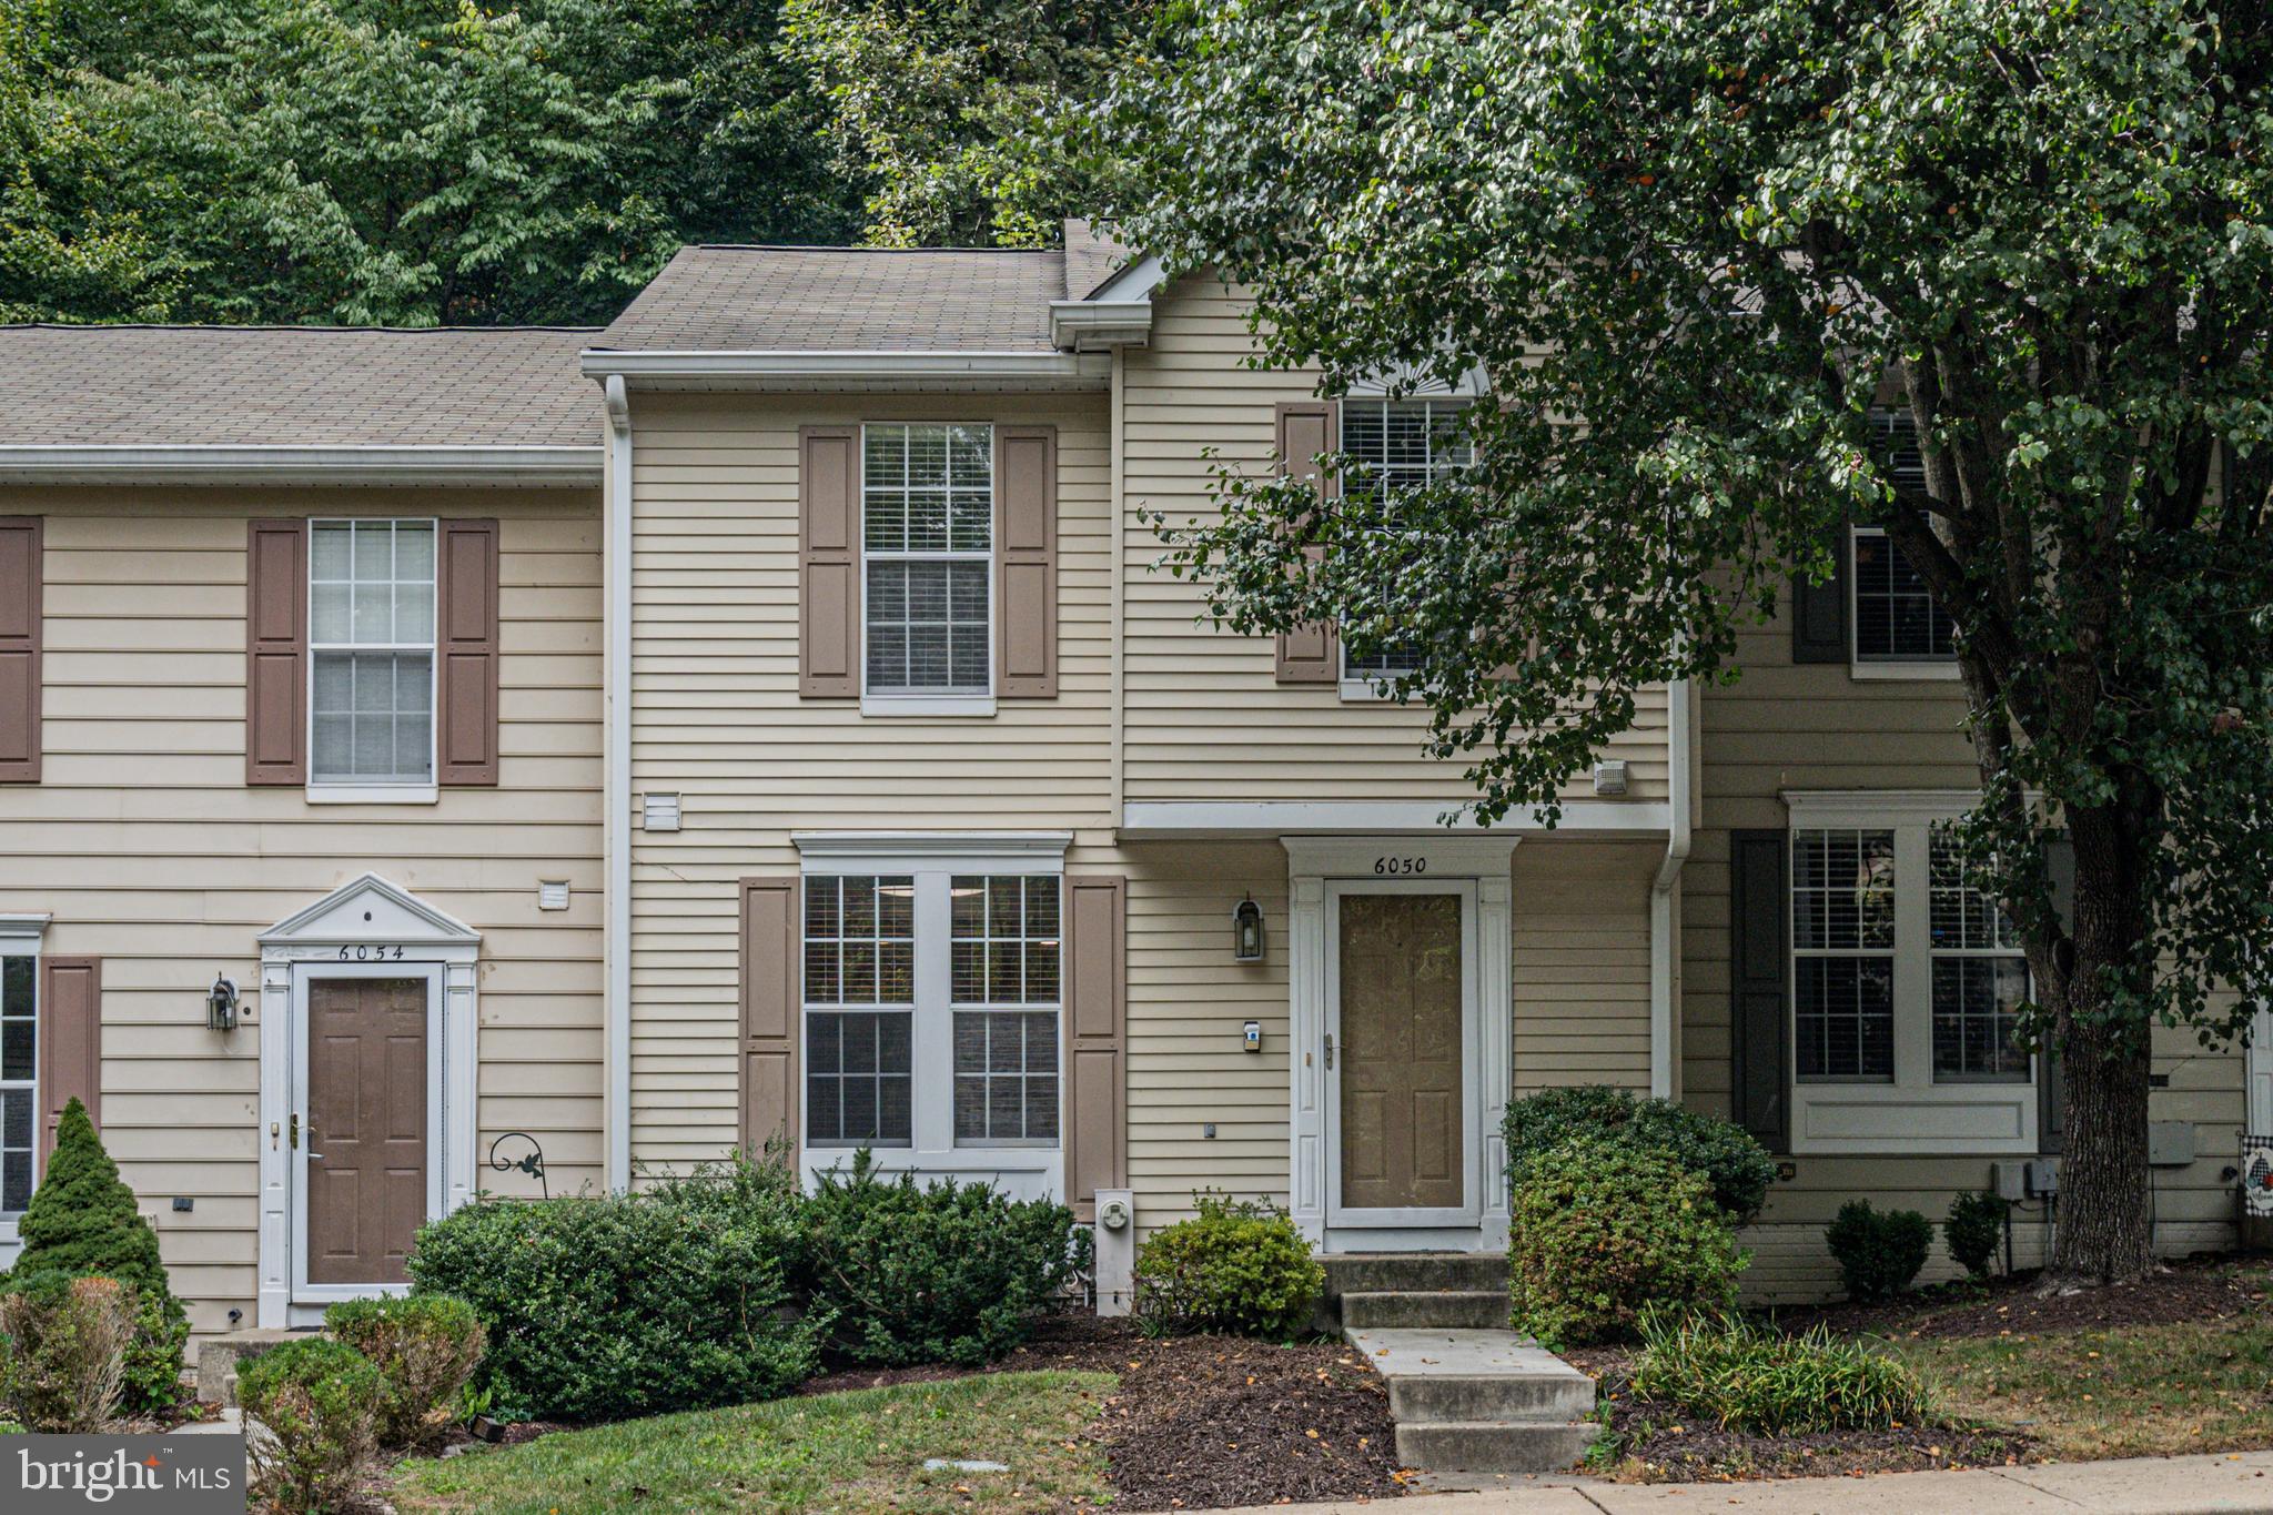
<svg viewBox="0 0 2273 1515"><path fill-rule="evenodd" d="M307 1281L405 1283L427 1199L427 981L307 988Z"/></svg>

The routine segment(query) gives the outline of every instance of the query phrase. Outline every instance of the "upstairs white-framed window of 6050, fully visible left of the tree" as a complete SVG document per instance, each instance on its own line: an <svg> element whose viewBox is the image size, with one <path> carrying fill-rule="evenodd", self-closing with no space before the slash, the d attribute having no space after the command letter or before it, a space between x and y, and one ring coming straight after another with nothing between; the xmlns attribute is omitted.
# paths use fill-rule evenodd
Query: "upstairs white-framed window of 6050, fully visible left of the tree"
<svg viewBox="0 0 2273 1515"><path fill-rule="evenodd" d="M861 427L864 697L993 695L993 427Z"/></svg>

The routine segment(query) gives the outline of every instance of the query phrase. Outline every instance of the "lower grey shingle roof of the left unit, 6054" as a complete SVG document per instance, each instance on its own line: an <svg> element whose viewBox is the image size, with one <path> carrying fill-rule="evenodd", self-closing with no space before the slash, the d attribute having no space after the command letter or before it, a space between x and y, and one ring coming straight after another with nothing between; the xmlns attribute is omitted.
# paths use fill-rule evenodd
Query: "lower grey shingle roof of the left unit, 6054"
<svg viewBox="0 0 2273 1515"><path fill-rule="evenodd" d="M568 327L0 327L9 443L589 447Z"/></svg>

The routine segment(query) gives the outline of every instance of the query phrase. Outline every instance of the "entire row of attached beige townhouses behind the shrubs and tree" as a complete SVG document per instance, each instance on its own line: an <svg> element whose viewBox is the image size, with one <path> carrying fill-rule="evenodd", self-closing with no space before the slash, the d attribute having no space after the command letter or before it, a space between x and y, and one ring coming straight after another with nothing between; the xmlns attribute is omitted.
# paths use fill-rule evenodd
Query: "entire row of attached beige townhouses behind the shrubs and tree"
<svg viewBox="0 0 2273 1515"><path fill-rule="evenodd" d="M7 1206L98 1093L200 1329L396 1286L471 1188L784 1142L1121 1197L1109 1263L1200 1188L1475 1252L1507 1102L1616 1083L1771 1142L1752 1283L1800 1297L1846 1197L1939 1217L2057 1154L2025 968L1939 865L1948 627L1882 538L1741 684L1643 700L1555 829L1443 825L1396 654L1207 625L1141 513L1205 516L1216 466L1459 468L1471 395L1250 352L1237 291L1080 223L689 248L605 332L0 332L36 391L0 445ZM2187 1252L2273 1077L2162 1054ZM482 1167L507 1133L543 1181Z"/></svg>

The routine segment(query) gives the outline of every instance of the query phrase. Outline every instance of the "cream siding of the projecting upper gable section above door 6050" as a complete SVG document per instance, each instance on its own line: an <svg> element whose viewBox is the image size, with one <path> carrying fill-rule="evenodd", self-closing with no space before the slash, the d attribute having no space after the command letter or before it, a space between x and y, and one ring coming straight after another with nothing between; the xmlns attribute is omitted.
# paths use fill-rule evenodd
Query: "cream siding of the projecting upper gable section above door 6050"
<svg viewBox="0 0 2273 1515"><path fill-rule="evenodd" d="M1334 686L1280 686L1268 636L1200 620L1184 579L1155 572L1162 545L1136 511L1207 518L1214 463L1273 466L1275 404L1312 397L1312 377L1243 368L1243 304L1212 277L1155 295L1148 348L1121 357L1125 581L1125 800L1466 800L1462 763L1421 752L1425 713L1343 702ZM1214 450L1214 459L1205 450ZM1634 727L1602 756L1625 759L1632 800L1664 800L1666 702L1648 690ZM1571 795L1591 797L1580 775Z"/></svg>

